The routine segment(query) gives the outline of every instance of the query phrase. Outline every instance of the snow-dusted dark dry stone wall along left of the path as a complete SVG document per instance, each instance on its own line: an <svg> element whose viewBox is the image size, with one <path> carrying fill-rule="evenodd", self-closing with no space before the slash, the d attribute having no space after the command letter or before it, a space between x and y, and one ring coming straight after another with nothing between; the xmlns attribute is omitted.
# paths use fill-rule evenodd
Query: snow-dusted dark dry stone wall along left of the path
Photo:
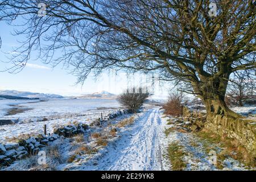
<svg viewBox="0 0 256 182"><path fill-rule="evenodd" d="M130 113L129 110L118 110L106 115L102 119L96 119L96 121L92 122L92 125L98 126L103 122L108 122L110 119L128 113ZM73 135L84 133L88 129L89 126L84 123L74 123L54 129L52 134L39 134L37 137L19 139L18 143L0 143L0 167L9 166L15 160L24 159L29 155L36 155L40 148L46 147L49 142L53 142L60 137L72 137Z"/></svg>

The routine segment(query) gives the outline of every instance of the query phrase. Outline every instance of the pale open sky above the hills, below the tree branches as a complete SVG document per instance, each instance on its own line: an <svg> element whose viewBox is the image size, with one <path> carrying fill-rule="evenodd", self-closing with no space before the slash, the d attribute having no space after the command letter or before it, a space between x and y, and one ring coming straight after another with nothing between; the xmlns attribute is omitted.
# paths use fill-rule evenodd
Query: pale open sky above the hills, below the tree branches
<svg viewBox="0 0 256 182"><path fill-rule="evenodd" d="M13 46L18 46L17 40L22 40L21 36L13 36L13 27L7 26L7 24L0 22L0 36L2 39L2 48L0 49L0 71L5 68L10 68L11 64L2 63L2 61L8 61L7 58L12 52ZM8 52L8 53L6 53ZM127 88L127 85L140 85L146 78L141 75L131 75L127 79L126 73L119 72L118 75L115 72L103 73L97 80L90 75L84 82L84 85L76 85L76 77L69 74L67 68L63 68L62 65L58 65L52 68L50 65L42 64L40 60L28 61L26 67L19 73L11 74L8 72L0 72L0 90L19 90L41 93L55 93L62 94L64 96L76 96L85 93L100 92L106 90L111 93L118 94L123 89ZM147 85L151 85L150 76L147 78ZM151 86L152 87L152 86ZM155 94L167 95L167 88L163 88L155 82L154 90Z"/></svg>

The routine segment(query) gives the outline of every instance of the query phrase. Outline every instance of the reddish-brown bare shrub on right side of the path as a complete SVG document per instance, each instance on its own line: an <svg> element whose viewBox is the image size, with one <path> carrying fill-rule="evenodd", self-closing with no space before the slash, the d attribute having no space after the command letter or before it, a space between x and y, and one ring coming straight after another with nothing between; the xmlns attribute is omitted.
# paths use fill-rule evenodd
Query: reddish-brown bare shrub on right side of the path
<svg viewBox="0 0 256 182"><path fill-rule="evenodd" d="M183 94L181 92L176 92L170 94L168 101L164 104L163 109L164 114L180 116L183 113L182 102L184 100Z"/></svg>

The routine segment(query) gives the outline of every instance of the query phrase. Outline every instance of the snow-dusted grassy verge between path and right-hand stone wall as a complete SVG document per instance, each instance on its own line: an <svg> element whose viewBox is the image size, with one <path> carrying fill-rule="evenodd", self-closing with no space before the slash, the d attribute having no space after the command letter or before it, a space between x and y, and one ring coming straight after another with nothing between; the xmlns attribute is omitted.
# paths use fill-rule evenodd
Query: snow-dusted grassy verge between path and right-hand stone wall
<svg viewBox="0 0 256 182"><path fill-rule="evenodd" d="M170 123L170 121L172 122ZM175 125L175 118L162 115L162 123L162 131L172 128ZM187 164L187 167L185 167L184 170L220 170L220 168L212 164L210 161L211 155L209 154L209 148L217 154L224 150L219 144L209 143L205 139L197 137L194 133L184 133L178 130L172 130L168 135L161 133L160 138L164 170L170 170L172 167L170 159L168 158L168 147L171 143L176 142L183 146L183 151L185 152L183 161ZM223 164L223 170L240 171L248 169L244 164L230 156L223 161Z"/></svg>

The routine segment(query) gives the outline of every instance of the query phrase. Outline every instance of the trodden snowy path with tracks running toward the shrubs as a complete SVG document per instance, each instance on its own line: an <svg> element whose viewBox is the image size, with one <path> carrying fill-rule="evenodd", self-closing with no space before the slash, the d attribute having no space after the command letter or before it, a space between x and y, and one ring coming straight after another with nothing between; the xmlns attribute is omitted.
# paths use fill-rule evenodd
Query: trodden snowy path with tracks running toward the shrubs
<svg viewBox="0 0 256 182"><path fill-rule="evenodd" d="M117 142L106 148L97 165L82 164L82 170L162 170L159 133L162 129L159 109L150 109L139 117Z"/></svg>

